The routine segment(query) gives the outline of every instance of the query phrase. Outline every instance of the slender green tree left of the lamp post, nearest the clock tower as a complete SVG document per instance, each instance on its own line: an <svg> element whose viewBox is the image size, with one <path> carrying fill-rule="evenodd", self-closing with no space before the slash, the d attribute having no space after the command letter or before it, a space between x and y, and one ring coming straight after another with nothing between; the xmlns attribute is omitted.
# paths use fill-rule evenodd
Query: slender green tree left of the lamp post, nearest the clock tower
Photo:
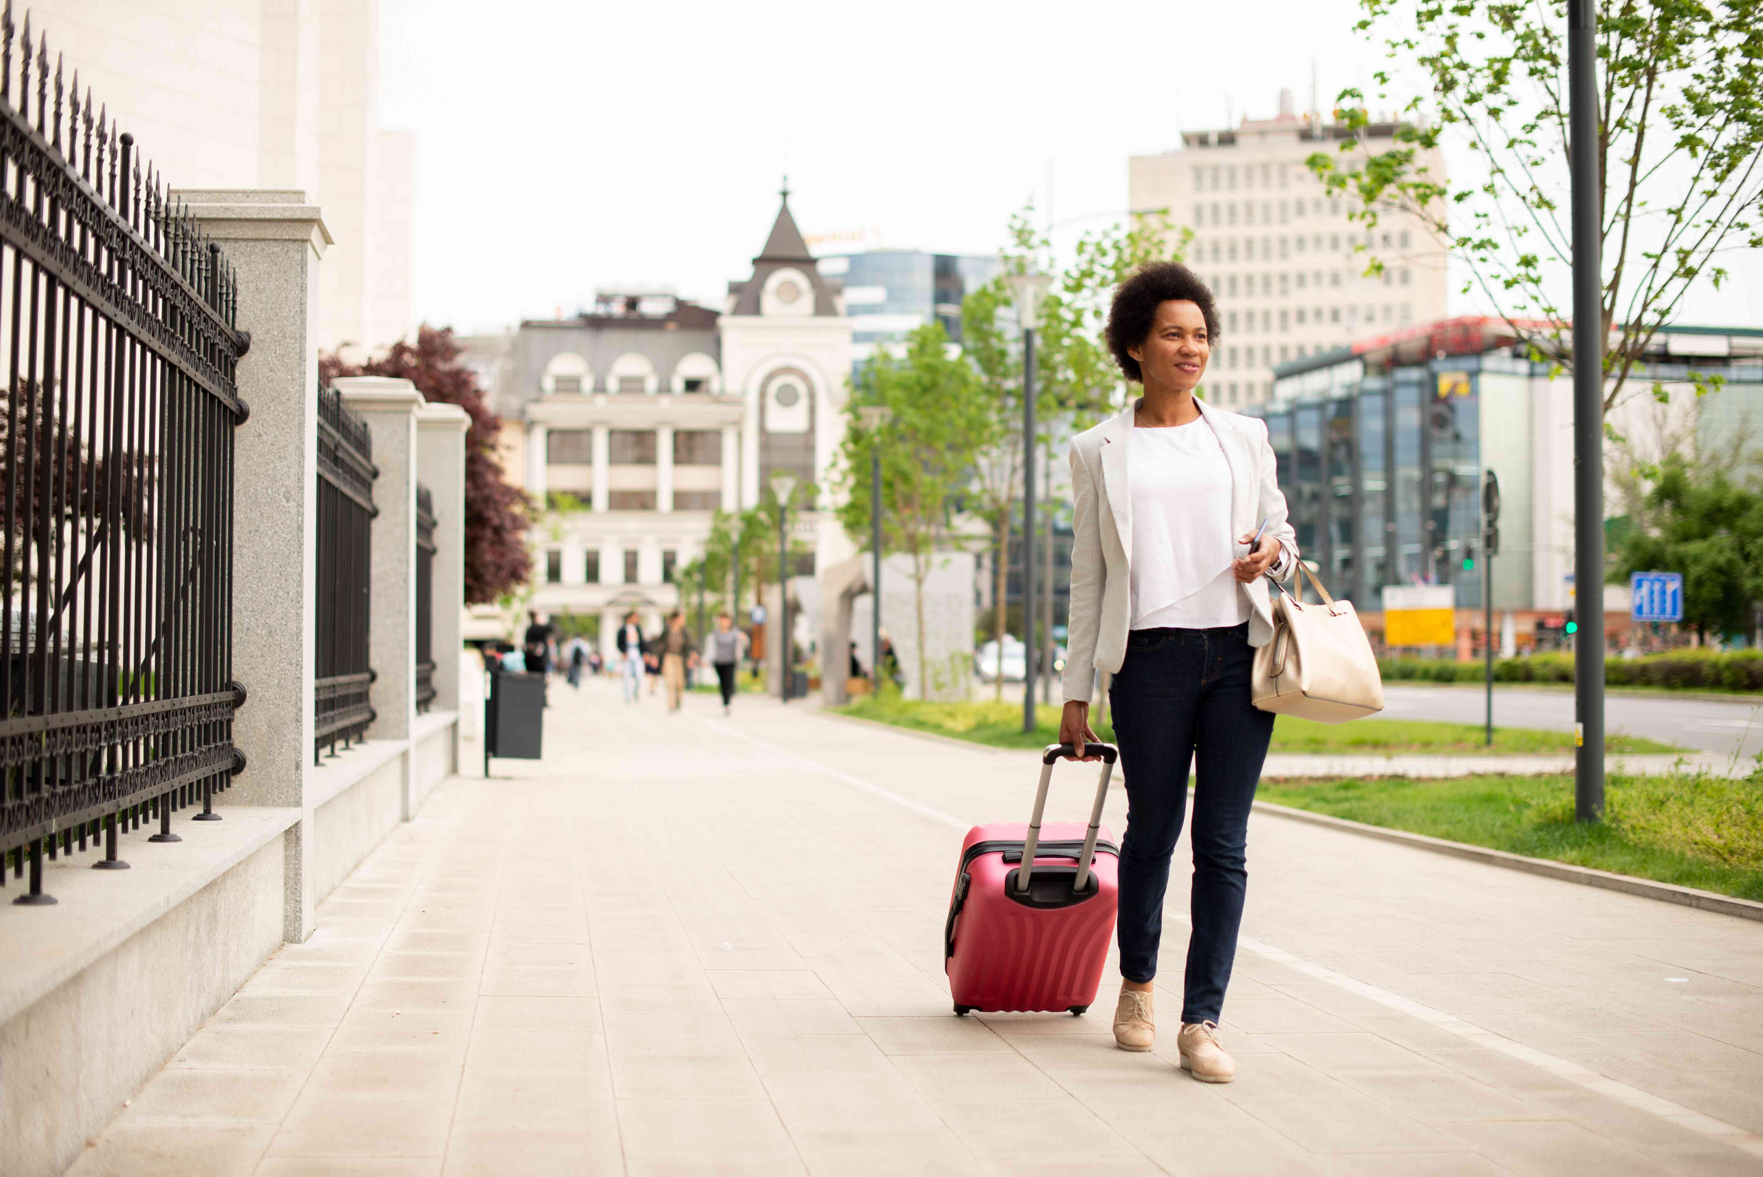
<svg viewBox="0 0 1763 1177"><path fill-rule="evenodd" d="M956 500L968 490L978 446L994 425L973 365L952 351L941 324L933 322L911 333L903 358L878 349L864 363L844 409L844 442L832 477L839 523L855 543L867 543L871 455L880 446L883 546L911 559L920 696L927 694L931 670L924 585L936 553L954 539ZM860 405L892 411L883 435L862 428Z"/></svg>

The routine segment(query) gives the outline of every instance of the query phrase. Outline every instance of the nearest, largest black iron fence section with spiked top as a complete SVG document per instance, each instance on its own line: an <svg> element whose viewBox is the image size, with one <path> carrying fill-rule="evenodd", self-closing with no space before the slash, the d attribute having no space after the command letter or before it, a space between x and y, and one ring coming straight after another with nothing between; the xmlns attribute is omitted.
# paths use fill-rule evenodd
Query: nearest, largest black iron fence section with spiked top
<svg viewBox="0 0 1763 1177"><path fill-rule="evenodd" d="M236 284L0 12L0 883L212 798L233 749ZM16 72L14 72L16 67ZM16 85L14 85L16 83Z"/></svg>

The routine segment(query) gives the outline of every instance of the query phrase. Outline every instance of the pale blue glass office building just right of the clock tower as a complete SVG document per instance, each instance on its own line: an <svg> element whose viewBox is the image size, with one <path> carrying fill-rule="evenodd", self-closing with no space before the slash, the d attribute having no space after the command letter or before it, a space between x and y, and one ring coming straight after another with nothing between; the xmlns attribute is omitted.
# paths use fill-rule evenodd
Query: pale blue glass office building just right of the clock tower
<svg viewBox="0 0 1763 1177"><path fill-rule="evenodd" d="M959 344L961 300L993 280L998 259L878 248L823 255L820 271L844 284L852 363L860 365L878 344L904 344L927 322L941 322Z"/></svg>

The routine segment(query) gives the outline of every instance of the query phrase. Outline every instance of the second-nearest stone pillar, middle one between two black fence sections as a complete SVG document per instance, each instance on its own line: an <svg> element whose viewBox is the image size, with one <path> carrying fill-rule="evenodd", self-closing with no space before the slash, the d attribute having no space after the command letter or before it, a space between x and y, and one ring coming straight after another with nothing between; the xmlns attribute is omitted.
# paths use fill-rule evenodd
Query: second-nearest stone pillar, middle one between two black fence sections
<svg viewBox="0 0 1763 1177"><path fill-rule="evenodd" d="M356 375L335 381L344 403L374 439L374 548L368 592L368 661L374 740L409 740L416 722L416 411L409 381ZM409 814L404 814L409 819Z"/></svg>

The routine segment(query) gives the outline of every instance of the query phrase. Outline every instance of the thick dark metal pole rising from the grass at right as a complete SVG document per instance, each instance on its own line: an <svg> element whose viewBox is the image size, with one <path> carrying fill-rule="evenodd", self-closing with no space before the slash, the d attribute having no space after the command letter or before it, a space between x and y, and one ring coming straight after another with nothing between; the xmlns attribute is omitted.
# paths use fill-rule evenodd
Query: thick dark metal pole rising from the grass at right
<svg viewBox="0 0 1763 1177"><path fill-rule="evenodd" d="M1578 721L1573 812L1604 814L1604 270L1597 192L1597 7L1567 4L1567 93L1573 144L1573 643Z"/></svg>

